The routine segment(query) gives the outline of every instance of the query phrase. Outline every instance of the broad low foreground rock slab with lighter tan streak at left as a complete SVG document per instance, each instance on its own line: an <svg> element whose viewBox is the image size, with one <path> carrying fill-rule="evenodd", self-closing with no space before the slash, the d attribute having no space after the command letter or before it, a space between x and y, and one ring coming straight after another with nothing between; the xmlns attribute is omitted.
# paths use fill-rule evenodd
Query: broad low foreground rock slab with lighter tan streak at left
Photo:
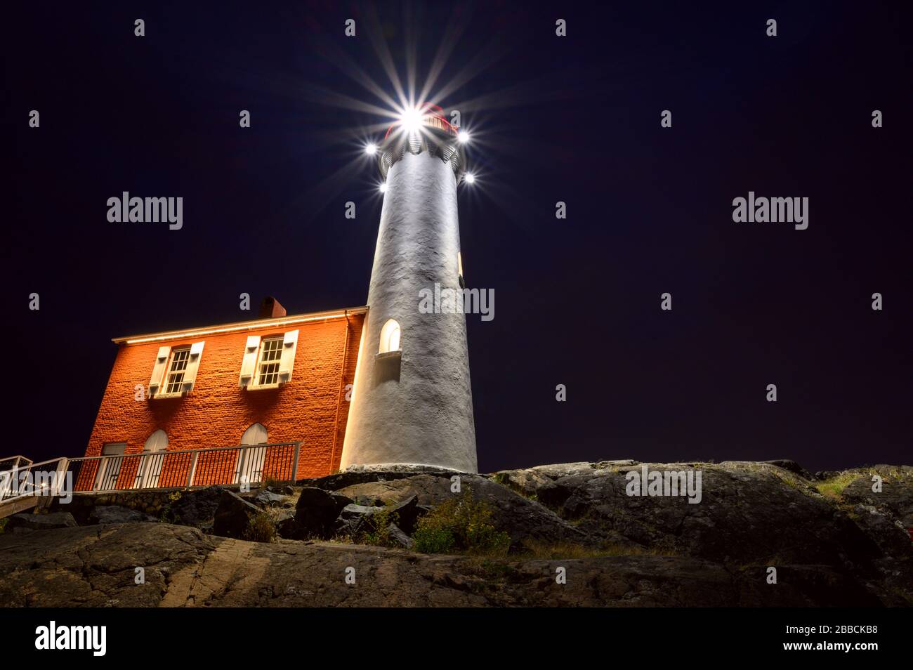
<svg viewBox="0 0 913 670"><path fill-rule="evenodd" d="M370 589L328 589L353 554ZM246 569L246 563L256 570ZM146 585L133 583L136 565ZM557 566L567 584L554 588ZM27 566L27 569L26 569ZM240 570L240 572L239 572ZM203 578L201 579L201 575ZM239 576L243 575L243 579ZM883 604L829 566L784 564L776 586L764 568L735 574L706 560L606 556L488 560L425 556L399 549L205 536L197 529L124 524L54 533L0 535L0 601L14 607L733 607Z"/></svg>

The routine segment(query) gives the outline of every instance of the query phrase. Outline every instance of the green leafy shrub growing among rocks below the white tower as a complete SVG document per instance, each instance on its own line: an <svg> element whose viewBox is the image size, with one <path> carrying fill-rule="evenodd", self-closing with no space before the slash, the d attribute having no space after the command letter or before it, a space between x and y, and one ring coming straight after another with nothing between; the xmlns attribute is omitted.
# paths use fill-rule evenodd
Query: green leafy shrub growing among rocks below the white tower
<svg viewBox="0 0 913 670"><path fill-rule="evenodd" d="M491 524L492 511L467 488L420 518L413 533L415 550L422 553L465 552L504 556L510 536Z"/></svg>

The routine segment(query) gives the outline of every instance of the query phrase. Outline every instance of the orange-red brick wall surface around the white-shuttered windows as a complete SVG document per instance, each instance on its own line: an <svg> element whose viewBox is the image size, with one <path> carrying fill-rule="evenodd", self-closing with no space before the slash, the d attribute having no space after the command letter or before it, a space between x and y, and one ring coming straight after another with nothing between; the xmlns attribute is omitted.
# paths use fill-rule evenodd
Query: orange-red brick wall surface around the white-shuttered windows
<svg viewBox="0 0 913 670"><path fill-rule="evenodd" d="M270 443L301 442L299 478L329 475L340 465L349 415L345 385L352 383L355 376L363 321L363 314L350 314L348 320L337 318L291 324L279 329L121 344L86 455L100 455L106 442L125 442L127 454L141 453L146 439L158 429L168 435L169 452L233 446L240 444L241 435L248 426L259 423L266 426ZM238 375L247 336L266 337L288 330L299 330L291 381L274 390L239 388ZM148 388L160 346L176 347L201 340L205 341L205 347L192 393L174 399L134 399L136 384ZM205 467L215 471L219 460L233 461L235 457L234 452L228 452L221 459L208 459ZM165 469L184 467L185 470L186 466L178 465L184 460L169 457ZM269 454L266 460L267 466L272 466L288 461L288 456L277 452ZM125 459L122 475L118 478L119 487L121 482L124 486L132 482L130 470L135 471L138 461ZM168 463L173 465L168 466ZM84 469L94 470L90 465L87 463ZM175 471L163 472L163 476L181 475ZM82 478L80 476L80 480Z"/></svg>

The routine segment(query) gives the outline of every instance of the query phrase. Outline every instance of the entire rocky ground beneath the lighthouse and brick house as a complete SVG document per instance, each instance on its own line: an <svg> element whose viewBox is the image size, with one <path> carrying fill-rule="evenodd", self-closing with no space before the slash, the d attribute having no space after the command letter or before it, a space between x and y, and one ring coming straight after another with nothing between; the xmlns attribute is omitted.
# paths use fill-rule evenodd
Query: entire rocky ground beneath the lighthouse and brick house
<svg viewBox="0 0 913 670"><path fill-rule="evenodd" d="M633 461L462 475L461 494L453 473L398 468L241 495L211 487L80 496L7 520L0 602L913 604L913 467L815 476L790 461L647 467L699 471L700 502L626 495L627 473L641 469ZM505 539L498 550L422 551L420 528L457 495L488 510Z"/></svg>

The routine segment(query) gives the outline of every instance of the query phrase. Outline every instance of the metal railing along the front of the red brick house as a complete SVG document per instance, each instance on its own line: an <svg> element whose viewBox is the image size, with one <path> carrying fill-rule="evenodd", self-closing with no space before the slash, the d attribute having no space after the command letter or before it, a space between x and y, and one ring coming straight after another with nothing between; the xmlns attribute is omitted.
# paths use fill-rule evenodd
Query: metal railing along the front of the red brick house
<svg viewBox="0 0 913 670"><path fill-rule="evenodd" d="M279 442L55 458L9 467L6 476L3 463L11 459L4 459L0 461L0 502L26 495L57 495L67 475L72 477L72 490L78 492L258 484L267 480L294 482L298 478L300 451L300 442ZM50 480L53 483L48 483Z"/></svg>

